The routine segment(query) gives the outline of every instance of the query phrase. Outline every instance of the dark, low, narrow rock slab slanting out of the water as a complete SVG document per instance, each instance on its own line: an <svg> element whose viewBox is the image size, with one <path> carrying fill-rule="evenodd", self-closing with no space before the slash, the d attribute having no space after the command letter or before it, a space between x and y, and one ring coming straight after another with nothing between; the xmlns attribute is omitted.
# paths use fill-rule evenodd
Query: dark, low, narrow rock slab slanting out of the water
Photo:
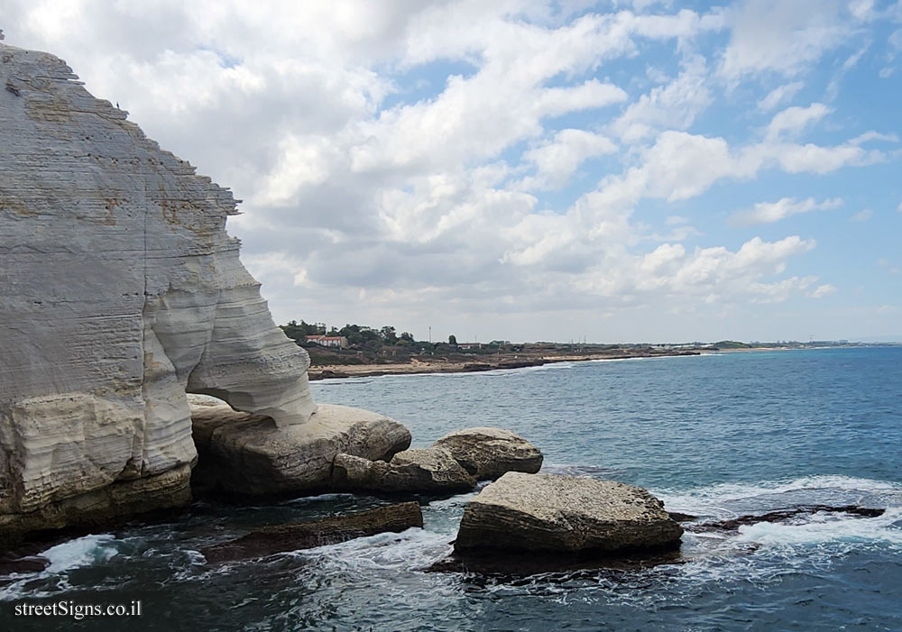
<svg viewBox="0 0 902 632"><path fill-rule="evenodd" d="M410 527L423 527L423 514L418 503L402 502L344 516L264 527L237 540L207 546L200 553L209 563L235 562L284 551L334 545L386 531L400 533Z"/></svg>

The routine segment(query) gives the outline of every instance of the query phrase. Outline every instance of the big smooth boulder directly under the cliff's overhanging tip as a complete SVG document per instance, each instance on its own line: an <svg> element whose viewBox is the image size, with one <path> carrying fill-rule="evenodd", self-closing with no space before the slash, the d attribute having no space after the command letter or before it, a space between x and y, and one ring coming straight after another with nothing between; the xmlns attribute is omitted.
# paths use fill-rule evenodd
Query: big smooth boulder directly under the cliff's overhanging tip
<svg viewBox="0 0 902 632"><path fill-rule="evenodd" d="M195 407L193 422L195 485L246 496L331 489L336 455L373 463L410 446L410 431L390 417L330 404L301 426L276 426L227 406Z"/></svg>

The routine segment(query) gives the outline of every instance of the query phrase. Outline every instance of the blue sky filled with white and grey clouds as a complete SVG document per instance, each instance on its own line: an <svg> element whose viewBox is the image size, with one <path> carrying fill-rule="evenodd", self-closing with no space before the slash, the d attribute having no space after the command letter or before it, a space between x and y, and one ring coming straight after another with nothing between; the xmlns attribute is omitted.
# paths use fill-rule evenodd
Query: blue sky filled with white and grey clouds
<svg viewBox="0 0 902 632"><path fill-rule="evenodd" d="M902 338L902 0L0 0L232 188L277 323Z"/></svg>

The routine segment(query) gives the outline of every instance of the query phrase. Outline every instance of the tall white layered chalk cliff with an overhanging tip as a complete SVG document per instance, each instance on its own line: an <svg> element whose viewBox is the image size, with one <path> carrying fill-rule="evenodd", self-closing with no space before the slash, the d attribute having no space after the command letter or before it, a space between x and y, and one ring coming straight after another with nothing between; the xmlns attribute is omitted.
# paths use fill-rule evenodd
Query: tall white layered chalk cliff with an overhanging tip
<svg viewBox="0 0 902 632"><path fill-rule="evenodd" d="M0 42L0 531L183 502L186 391L279 426L316 409L231 193L74 79Z"/></svg>

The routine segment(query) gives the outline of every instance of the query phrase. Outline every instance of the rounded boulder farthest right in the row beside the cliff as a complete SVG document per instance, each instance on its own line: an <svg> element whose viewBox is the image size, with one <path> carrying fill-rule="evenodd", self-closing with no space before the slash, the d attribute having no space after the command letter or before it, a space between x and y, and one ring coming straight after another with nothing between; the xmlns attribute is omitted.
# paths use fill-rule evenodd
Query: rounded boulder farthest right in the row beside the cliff
<svg viewBox="0 0 902 632"><path fill-rule="evenodd" d="M542 453L533 444L502 428L467 428L432 444L455 458L477 480L497 479L506 472L534 474L542 467Z"/></svg>

